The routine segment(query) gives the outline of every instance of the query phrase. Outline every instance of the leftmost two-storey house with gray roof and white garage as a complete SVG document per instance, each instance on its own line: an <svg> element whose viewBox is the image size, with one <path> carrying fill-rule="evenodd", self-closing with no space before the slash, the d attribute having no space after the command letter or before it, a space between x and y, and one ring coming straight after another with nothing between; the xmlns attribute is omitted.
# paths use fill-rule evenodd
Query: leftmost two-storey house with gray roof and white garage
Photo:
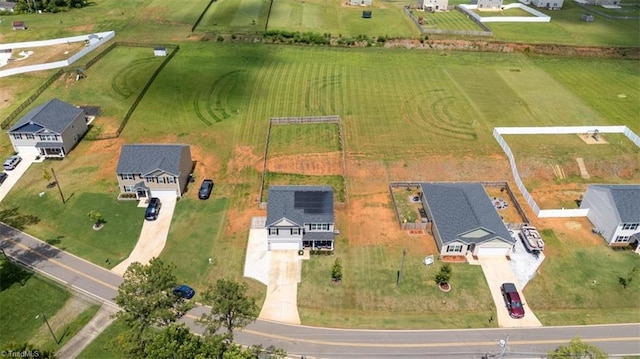
<svg viewBox="0 0 640 359"><path fill-rule="evenodd" d="M62 158L88 129L84 110L52 99L29 111L8 133L14 150L22 155Z"/></svg>

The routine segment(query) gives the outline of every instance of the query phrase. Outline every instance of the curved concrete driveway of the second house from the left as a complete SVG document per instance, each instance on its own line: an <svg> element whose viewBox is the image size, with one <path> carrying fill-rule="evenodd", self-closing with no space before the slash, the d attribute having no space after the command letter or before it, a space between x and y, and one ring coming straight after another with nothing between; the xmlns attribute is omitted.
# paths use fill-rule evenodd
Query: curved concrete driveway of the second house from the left
<svg viewBox="0 0 640 359"><path fill-rule="evenodd" d="M146 207L143 201L140 202L141 206L144 205ZM123 275L131 263L148 264L152 258L160 256L167 243L171 218L173 218L173 211L176 208L176 198L160 198L160 203L162 203L162 207L160 208L158 219L147 221L143 216L140 217L140 220L144 221L144 223L142 224L138 243L136 243L135 248L133 248L127 259L111 269L112 272Z"/></svg>

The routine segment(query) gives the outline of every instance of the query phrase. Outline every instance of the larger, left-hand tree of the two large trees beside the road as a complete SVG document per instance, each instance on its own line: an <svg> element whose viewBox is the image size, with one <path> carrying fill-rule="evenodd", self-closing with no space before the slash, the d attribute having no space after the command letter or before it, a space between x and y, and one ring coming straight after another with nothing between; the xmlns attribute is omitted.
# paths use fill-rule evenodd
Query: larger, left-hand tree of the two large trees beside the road
<svg viewBox="0 0 640 359"><path fill-rule="evenodd" d="M124 273L115 301L123 309L116 316L131 329L123 338L130 345L122 343L129 356L143 355L149 342L147 329L167 326L190 309L183 298L173 295L174 270L174 265L153 258L147 265L132 263Z"/></svg>

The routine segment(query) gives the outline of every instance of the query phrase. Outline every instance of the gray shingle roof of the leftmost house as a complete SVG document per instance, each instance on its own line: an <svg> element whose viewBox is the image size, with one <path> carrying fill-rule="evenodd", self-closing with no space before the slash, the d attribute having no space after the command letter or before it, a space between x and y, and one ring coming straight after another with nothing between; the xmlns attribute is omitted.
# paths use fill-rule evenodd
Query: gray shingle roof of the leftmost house
<svg viewBox="0 0 640 359"><path fill-rule="evenodd" d="M62 134L73 120L83 112L82 109L54 98L29 111L9 129L9 132L33 133L45 128L57 134Z"/></svg>

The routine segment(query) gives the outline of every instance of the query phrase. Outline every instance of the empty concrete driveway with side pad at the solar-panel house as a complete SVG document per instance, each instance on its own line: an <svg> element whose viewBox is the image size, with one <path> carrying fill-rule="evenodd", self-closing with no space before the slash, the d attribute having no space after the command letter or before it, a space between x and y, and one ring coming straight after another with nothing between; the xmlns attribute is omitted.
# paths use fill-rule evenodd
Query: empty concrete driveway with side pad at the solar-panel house
<svg viewBox="0 0 640 359"><path fill-rule="evenodd" d="M260 319L300 324L298 283L302 275L303 257L298 255L298 251L268 251L265 220L265 217L251 220L244 276L267 285L267 297L260 311Z"/></svg>

